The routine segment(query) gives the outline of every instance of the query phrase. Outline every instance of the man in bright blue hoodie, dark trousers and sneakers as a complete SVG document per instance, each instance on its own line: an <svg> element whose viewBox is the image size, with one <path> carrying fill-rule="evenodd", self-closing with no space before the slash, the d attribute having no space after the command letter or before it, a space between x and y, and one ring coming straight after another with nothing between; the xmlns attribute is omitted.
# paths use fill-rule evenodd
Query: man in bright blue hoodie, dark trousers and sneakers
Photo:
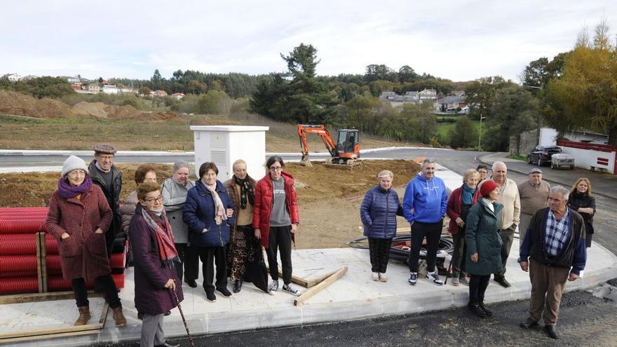
<svg viewBox="0 0 617 347"><path fill-rule="evenodd" d="M412 226L412 250L409 252L409 285L418 280L418 259L422 241L426 237L426 278L435 285L443 285L435 272L435 259L443 217L446 215L448 193L442 179L435 177L435 162L425 159L422 171L409 181L402 199L405 219Z"/></svg>

